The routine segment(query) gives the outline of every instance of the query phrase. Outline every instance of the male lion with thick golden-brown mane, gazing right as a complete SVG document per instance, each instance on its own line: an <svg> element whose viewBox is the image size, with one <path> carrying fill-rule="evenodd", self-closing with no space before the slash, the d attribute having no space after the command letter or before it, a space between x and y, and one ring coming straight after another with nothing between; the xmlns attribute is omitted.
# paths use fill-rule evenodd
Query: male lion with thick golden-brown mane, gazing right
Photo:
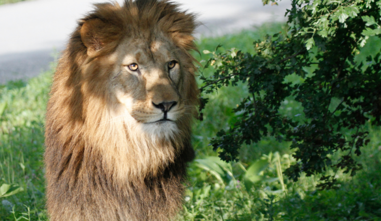
<svg viewBox="0 0 381 221"><path fill-rule="evenodd" d="M79 21L47 106L51 221L176 215L194 158L196 26L167 0L97 4Z"/></svg>

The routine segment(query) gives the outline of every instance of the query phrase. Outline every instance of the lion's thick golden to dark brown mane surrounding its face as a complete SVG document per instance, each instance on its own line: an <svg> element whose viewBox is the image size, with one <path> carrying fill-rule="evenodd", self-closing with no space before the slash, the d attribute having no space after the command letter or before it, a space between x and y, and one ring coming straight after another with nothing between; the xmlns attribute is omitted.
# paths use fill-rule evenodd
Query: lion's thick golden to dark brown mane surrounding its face
<svg viewBox="0 0 381 221"><path fill-rule="evenodd" d="M91 42L101 48L92 56L81 39L90 19L105 24L97 33L101 37ZM113 120L107 70L96 62L126 37L149 41L160 31L186 54L183 71L192 77L184 82L182 96L187 106L195 106L194 59L187 51L196 49L196 25L195 15L156 0L97 4L78 22L59 60L47 106L45 167L52 221L168 220L181 208L187 162L194 158L190 128L195 108L188 108L179 120L180 132L169 139L136 131Z"/></svg>

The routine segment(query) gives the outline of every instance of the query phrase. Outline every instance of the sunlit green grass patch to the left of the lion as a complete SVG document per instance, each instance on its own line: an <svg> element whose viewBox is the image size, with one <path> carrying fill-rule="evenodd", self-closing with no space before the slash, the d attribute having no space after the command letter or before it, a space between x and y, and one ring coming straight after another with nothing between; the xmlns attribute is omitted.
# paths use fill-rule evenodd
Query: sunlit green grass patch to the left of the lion
<svg viewBox="0 0 381 221"><path fill-rule="evenodd" d="M44 117L53 71L0 87L0 185L17 184L24 191L1 198L0 220L14 220L12 207L20 212L29 207L31 220L42 220L44 202ZM24 206L25 205L25 206Z"/></svg>

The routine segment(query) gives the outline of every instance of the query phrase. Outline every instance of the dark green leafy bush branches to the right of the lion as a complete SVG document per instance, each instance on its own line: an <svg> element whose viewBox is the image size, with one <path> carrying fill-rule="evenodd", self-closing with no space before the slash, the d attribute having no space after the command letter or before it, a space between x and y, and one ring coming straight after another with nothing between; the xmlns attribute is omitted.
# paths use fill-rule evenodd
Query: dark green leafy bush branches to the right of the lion
<svg viewBox="0 0 381 221"><path fill-rule="evenodd" d="M325 174L330 168L351 176L361 170L354 156L370 142L364 125L381 125L381 66L380 53L366 62L356 58L370 36L381 34L380 7L374 0L293 0L287 30L255 41L255 52L204 50L212 56L204 68L215 72L202 73L203 94L247 85L233 108L238 119L210 143L219 157L237 161L242 145L270 135L291 142L297 163L285 174L294 181L302 173L324 174L318 186L336 188L337 179ZM295 77L300 82L289 80ZM303 112L280 112L290 96ZM201 102L200 112L208 99ZM336 159L337 152L344 154Z"/></svg>

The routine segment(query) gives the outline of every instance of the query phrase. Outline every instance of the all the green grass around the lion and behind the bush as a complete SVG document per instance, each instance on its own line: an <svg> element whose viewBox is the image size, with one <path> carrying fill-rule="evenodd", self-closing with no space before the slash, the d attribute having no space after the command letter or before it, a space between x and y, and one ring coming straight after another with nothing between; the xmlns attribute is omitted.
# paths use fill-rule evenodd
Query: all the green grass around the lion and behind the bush
<svg viewBox="0 0 381 221"><path fill-rule="evenodd" d="M232 47L252 52L252 41L282 30L282 24L266 24L254 30L198 41L200 51ZM381 42L370 40L379 48ZM368 50L368 52L366 52ZM373 53L369 46L363 54ZM196 54L199 60L208 57ZM23 191L1 198L0 220L48 220L44 199L44 116L54 70L27 82L0 86L0 186L13 184ZM205 70L204 74L211 74ZM300 81L295 76L288 80ZM210 94L204 121L194 126L197 159L190 165L184 210L179 220L381 220L381 138L379 128L367 125L371 142L357 157L364 169L354 178L342 172L337 190L316 191L319 177L292 182L279 172L295 160L289 143L266 137L240 151L240 163L216 161L208 146L220 128L237 120L232 108L246 93L246 86L228 87ZM4 108L3 108L4 107ZM4 110L4 111L3 111ZM290 116L302 113L292 97L281 111ZM333 172L331 172L333 173ZM250 181L250 179L253 180ZM255 178L255 179L254 179ZM17 186L16 186L17 185ZM284 189L282 189L284 188ZM21 190L21 189L18 189Z"/></svg>

